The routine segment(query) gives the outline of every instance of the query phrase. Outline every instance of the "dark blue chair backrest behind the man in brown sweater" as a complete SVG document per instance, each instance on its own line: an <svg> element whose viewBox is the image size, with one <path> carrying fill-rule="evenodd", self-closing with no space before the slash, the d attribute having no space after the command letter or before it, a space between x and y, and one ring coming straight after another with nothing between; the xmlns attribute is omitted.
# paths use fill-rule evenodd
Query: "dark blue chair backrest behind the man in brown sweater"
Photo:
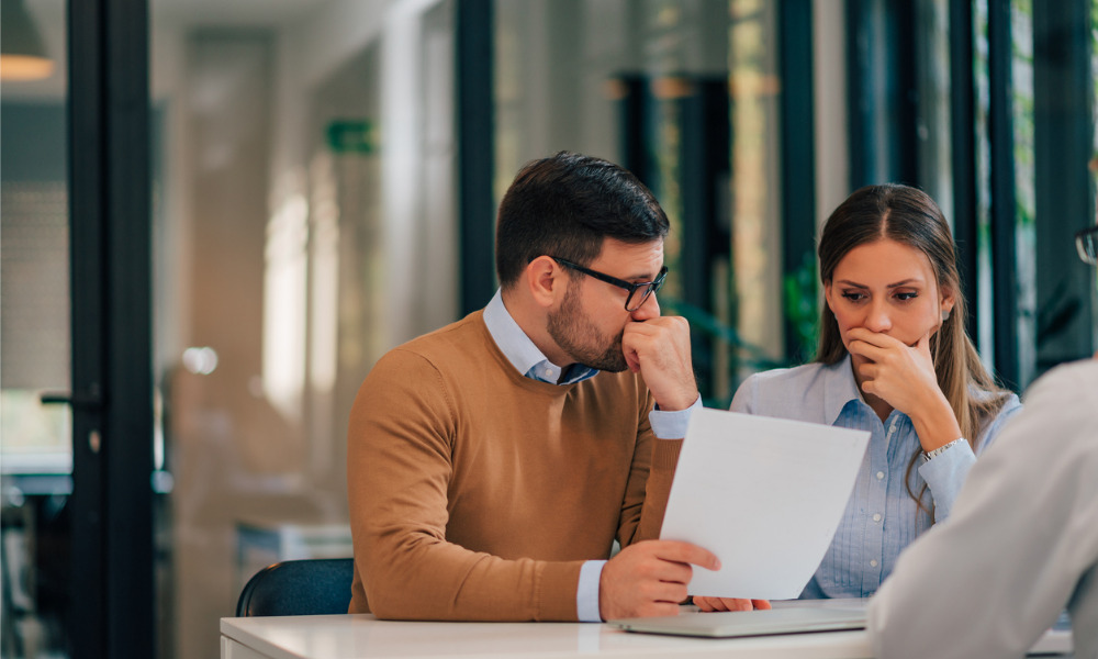
<svg viewBox="0 0 1098 659"><path fill-rule="evenodd" d="M347 613L355 559L287 560L259 570L236 602L237 617Z"/></svg>

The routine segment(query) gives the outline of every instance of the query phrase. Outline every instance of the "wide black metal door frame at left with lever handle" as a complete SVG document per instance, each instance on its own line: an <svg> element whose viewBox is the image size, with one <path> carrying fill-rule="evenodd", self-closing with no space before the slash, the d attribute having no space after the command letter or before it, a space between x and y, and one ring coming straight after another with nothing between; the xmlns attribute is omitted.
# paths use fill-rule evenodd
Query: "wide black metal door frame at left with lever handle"
<svg viewBox="0 0 1098 659"><path fill-rule="evenodd" d="M72 656L153 657L147 0L70 0Z"/></svg>

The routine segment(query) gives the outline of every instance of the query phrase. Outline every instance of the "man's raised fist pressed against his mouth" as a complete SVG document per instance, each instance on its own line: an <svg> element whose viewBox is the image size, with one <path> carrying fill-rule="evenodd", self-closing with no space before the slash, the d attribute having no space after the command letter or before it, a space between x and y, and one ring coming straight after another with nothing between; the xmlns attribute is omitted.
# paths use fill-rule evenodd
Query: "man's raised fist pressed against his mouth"
<svg viewBox="0 0 1098 659"><path fill-rule="evenodd" d="M690 353L690 324L681 316L627 323L621 351L629 370L639 372L660 410L685 410L697 401Z"/></svg>

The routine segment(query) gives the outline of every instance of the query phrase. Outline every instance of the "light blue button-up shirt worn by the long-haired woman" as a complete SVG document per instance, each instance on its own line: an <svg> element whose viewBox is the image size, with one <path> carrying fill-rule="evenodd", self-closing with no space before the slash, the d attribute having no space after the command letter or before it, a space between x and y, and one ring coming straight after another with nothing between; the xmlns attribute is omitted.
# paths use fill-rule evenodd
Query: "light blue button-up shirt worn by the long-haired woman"
<svg viewBox="0 0 1098 659"><path fill-rule="evenodd" d="M983 453L1020 409L1018 396L1009 394L995 418L984 423L976 450ZM930 514L919 510L905 484L911 457L921 453L911 418L893 410L881 421L858 389L849 355L831 366L807 364L755 373L740 386L731 410L871 433L842 522L800 597L867 597L875 593L892 573L900 550L932 524ZM910 491L918 495L927 485L923 503L927 507L933 503L934 520L941 522L949 516L975 461L967 442L952 445L929 461L920 455L911 469Z"/></svg>

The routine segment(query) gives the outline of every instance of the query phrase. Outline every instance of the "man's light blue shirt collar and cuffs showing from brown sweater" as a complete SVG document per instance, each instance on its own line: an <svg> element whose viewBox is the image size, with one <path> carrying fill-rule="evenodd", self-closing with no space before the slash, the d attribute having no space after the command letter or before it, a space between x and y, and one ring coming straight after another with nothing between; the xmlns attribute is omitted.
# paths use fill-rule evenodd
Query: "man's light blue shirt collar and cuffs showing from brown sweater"
<svg viewBox="0 0 1098 659"><path fill-rule="evenodd" d="M492 340L495 342L507 360L527 378L550 384L572 384L598 375L597 369L575 364L568 369L564 379L561 380L561 373L564 372L564 369L549 361L534 345L530 337L523 332L523 328L518 326L504 305L500 290L495 291L492 301L484 308L484 324L488 325ZM653 410L649 412L648 421L652 424L652 433L660 439L683 437L686 435L686 424L690 423L691 411L701 404L702 399L698 398L694 405L686 410L676 412ZM589 560L580 569L580 583L575 591L575 608L582 622L602 622L602 616L598 614L598 579L605 563L605 560Z"/></svg>

